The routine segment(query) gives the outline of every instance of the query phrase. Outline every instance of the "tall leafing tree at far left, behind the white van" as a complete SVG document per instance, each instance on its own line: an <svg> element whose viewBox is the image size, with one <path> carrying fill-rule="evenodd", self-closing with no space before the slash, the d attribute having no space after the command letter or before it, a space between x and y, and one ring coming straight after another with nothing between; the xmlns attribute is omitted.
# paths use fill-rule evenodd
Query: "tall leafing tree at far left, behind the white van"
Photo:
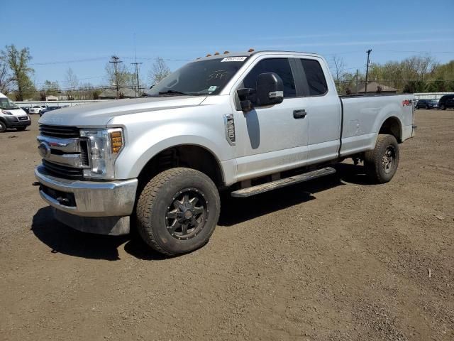
<svg viewBox="0 0 454 341"><path fill-rule="evenodd" d="M9 66L12 72L12 80L16 83L16 97L19 101L28 94L35 92L35 86L31 81L30 75L34 70L29 66L31 55L29 48L18 50L15 45L6 45L5 50L0 53L1 60Z"/></svg>

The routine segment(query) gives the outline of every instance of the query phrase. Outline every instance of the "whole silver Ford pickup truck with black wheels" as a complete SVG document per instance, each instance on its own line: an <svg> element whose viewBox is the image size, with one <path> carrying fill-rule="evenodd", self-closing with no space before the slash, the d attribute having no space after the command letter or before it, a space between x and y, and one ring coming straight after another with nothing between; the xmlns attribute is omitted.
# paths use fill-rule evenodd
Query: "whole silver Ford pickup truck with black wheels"
<svg viewBox="0 0 454 341"><path fill-rule="evenodd" d="M413 95L339 97L326 60L261 51L199 58L149 97L48 112L35 169L55 218L98 234L130 225L167 255L208 242L219 191L248 197L364 162L375 183L414 135Z"/></svg>

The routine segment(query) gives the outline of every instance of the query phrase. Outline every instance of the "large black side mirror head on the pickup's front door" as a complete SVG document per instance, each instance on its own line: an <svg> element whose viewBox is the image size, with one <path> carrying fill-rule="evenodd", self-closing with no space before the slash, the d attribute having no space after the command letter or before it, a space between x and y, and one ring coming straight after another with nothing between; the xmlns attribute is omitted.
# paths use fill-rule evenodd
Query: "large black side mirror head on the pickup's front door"
<svg viewBox="0 0 454 341"><path fill-rule="evenodd" d="M275 72L260 73L257 77L257 105L278 104L284 100L284 83Z"/></svg>

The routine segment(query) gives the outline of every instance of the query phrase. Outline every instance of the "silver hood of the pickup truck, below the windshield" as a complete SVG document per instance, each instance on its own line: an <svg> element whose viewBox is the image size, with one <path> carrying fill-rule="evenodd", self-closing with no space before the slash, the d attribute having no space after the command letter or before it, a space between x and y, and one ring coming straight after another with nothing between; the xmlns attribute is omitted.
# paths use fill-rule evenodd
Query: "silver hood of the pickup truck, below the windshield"
<svg viewBox="0 0 454 341"><path fill-rule="evenodd" d="M145 97L138 99L111 99L106 102L74 105L52 112L40 118L40 124L62 126L96 127L106 126L114 117L139 112L196 107L206 96Z"/></svg>

